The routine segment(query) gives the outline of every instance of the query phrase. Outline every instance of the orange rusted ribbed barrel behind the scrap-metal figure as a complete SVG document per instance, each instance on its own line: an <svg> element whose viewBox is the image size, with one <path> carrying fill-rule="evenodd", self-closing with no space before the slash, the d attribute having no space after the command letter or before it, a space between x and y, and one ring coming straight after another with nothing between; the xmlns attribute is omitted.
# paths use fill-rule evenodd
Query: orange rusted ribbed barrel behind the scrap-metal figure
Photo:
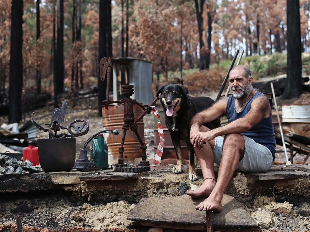
<svg viewBox="0 0 310 232"><path fill-rule="evenodd" d="M143 110L138 105L134 104L134 114L135 118L138 118L140 114L143 113ZM105 133L105 140L108 145L108 163L115 164L118 163L118 148L122 143L123 130L122 125L124 123L124 104L120 105L109 105L109 109L106 110L102 108L102 117L103 117L103 125L104 130L120 130L119 135L115 136L110 133ZM138 125L138 133L144 143L144 123L143 119L137 122ZM144 144L145 145L145 144ZM142 155L142 151L140 149L140 143L137 139L135 133L131 130L127 130L125 144L124 144L124 162L125 163L133 163L135 158L138 158Z"/></svg>

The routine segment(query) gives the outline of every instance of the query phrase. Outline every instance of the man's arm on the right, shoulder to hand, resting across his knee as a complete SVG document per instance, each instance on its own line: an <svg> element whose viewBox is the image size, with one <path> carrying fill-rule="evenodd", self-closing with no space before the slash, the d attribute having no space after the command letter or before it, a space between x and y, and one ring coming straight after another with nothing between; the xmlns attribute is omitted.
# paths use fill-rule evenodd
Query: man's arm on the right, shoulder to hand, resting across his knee
<svg viewBox="0 0 310 232"><path fill-rule="evenodd" d="M264 96L257 97L251 103L251 110L243 118L238 118L223 127L218 127L211 131L199 132L192 144L196 147L198 146L198 141L200 141L199 145L203 147L204 142L213 140L216 136L247 131L263 118L268 117L270 110L268 99Z"/></svg>

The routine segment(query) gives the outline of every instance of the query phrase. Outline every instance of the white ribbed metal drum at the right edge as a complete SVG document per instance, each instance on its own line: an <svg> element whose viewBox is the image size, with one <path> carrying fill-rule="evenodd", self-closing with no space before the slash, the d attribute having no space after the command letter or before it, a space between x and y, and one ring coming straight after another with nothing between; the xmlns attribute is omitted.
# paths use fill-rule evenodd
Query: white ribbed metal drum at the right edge
<svg viewBox="0 0 310 232"><path fill-rule="evenodd" d="M310 105L283 104L282 122L310 122Z"/></svg>

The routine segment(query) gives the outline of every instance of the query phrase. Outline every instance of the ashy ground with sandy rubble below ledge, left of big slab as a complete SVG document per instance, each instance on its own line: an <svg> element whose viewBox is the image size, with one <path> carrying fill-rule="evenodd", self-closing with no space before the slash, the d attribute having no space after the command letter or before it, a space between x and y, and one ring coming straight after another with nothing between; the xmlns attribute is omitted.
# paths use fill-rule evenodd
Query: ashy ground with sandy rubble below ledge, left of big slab
<svg viewBox="0 0 310 232"><path fill-rule="evenodd" d="M0 225L14 223L15 217L22 218L23 226L54 229L73 226L94 229L132 228L135 225L134 221L126 219L135 205L125 201L89 204L73 196L55 195L45 196L40 200L32 197L2 199L0 203Z"/></svg>

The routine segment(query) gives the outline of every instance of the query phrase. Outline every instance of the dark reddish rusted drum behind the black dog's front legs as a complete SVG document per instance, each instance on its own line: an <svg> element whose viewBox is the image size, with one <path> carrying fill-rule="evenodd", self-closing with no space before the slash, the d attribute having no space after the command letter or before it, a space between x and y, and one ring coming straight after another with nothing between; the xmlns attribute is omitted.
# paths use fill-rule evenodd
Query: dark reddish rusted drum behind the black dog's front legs
<svg viewBox="0 0 310 232"><path fill-rule="evenodd" d="M172 144L171 136L166 127L165 112L159 111L160 120L162 121L162 129L164 131L165 146L162 153L162 159L176 158L175 148ZM158 135L157 118L154 117L154 154L156 153L157 146L160 138ZM181 140L181 154L182 158L188 160L188 149L184 140Z"/></svg>

